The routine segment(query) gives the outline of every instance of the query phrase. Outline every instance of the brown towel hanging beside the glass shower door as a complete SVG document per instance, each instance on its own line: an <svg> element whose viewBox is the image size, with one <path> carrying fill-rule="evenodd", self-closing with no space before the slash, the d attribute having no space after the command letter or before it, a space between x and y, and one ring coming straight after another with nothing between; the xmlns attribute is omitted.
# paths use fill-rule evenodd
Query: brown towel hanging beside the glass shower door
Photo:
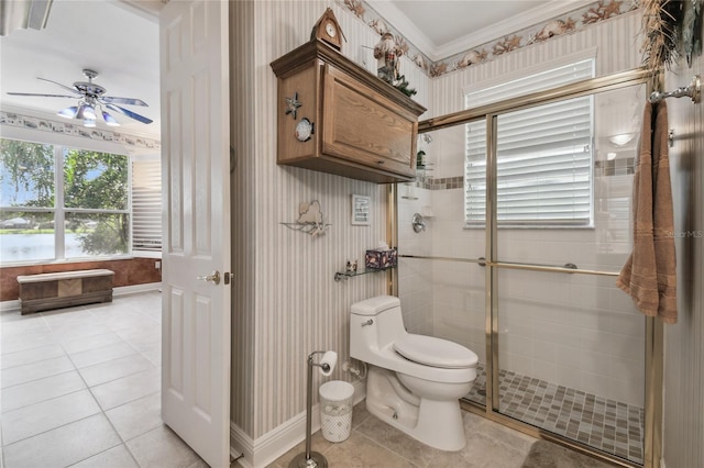
<svg viewBox="0 0 704 468"><path fill-rule="evenodd" d="M649 316L675 323L676 276L672 188L668 159L666 101L644 111L640 153L634 179L634 250L616 285Z"/></svg>

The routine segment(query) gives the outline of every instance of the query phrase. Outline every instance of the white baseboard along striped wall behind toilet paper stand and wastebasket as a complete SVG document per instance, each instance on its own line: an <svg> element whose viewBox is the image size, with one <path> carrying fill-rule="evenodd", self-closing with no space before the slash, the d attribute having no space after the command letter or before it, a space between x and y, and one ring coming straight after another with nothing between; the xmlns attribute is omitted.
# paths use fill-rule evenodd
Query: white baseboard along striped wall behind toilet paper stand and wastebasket
<svg viewBox="0 0 704 468"><path fill-rule="evenodd" d="M365 380L352 382L354 386L354 404L364 400L366 393L365 383ZM317 432L320 428L319 404L314 404L310 422L312 432ZM237 463L244 468L266 467L305 439L305 411L257 439L253 439L246 435L234 423L230 424L230 447L234 453L242 454L242 456L237 459Z"/></svg>

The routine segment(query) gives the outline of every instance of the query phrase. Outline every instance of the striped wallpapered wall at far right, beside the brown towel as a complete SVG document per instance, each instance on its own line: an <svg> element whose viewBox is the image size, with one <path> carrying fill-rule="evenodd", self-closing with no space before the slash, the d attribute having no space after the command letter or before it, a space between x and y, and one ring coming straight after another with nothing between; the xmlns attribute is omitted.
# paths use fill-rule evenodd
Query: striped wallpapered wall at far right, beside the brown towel
<svg viewBox="0 0 704 468"><path fill-rule="evenodd" d="M704 59L668 73L668 91L704 74ZM668 99L670 170L678 252L675 325L664 326L663 468L704 466L704 110Z"/></svg>

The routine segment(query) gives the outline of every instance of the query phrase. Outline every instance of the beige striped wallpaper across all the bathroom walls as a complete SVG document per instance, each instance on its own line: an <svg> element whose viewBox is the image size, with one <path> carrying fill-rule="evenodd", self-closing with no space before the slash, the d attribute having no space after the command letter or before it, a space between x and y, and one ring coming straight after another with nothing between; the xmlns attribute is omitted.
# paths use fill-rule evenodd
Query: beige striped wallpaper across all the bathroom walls
<svg viewBox="0 0 704 468"><path fill-rule="evenodd" d="M276 165L278 104L276 79L268 64L308 41L310 29L327 7L333 9L345 34L342 53L371 71L374 59L364 46L373 46L377 36L332 0L230 4L232 141L237 155L232 175L232 422L257 439L305 411L308 354L333 349L340 355L339 364L344 361L349 355L350 305L386 290L384 274L333 281L336 270L348 259L362 259L366 248L385 238L386 187ZM462 88L469 83L576 51L596 48L597 75L636 67L641 63L636 40L639 27L639 12L631 12L433 80L409 63L404 63L402 73L418 89L414 99L431 109L421 116L427 119L460 110ZM701 73L701 59L696 66ZM683 85L673 77L669 82ZM678 127L682 132L695 126L701 131L701 109L682 105L681 115L672 118L681 120ZM701 157L695 156L703 153L701 132L696 140L680 144L682 149L676 151L686 153L679 156L679 172L673 174L692 183L681 185L690 192L675 194L675 211L678 203L688 201L683 211L686 215L679 222L686 220L692 229L701 230L703 169ZM352 193L371 198L370 226L351 225ZM295 221L298 203L311 200L320 201L331 224L324 236L312 238L280 224ZM691 278L682 309L692 312L682 314L681 325L667 330L666 372L670 380L666 399L678 402L666 403L666 457L671 467L704 465L704 448L695 443L704 437L704 397L698 391L704 387L702 241L690 238L680 241L680 252L691 252L696 260L680 263L681 277L686 274ZM330 378L350 380L339 367ZM315 380L316 386L321 382L318 376Z"/></svg>

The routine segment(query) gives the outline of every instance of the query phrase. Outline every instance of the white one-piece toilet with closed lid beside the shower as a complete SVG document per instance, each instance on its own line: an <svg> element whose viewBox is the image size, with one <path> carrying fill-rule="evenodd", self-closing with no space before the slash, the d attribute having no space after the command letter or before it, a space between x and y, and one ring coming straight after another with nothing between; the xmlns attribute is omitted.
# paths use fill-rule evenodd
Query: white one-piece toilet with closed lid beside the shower
<svg viewBox="0 0 704 468"><path fill-rule="evenodd" d="M370 413L431 447L464 447L459 399L476 378L474 353L447 339L407 333L398 298L378 296L352 304L350 356L371 365Z"/></svg>

